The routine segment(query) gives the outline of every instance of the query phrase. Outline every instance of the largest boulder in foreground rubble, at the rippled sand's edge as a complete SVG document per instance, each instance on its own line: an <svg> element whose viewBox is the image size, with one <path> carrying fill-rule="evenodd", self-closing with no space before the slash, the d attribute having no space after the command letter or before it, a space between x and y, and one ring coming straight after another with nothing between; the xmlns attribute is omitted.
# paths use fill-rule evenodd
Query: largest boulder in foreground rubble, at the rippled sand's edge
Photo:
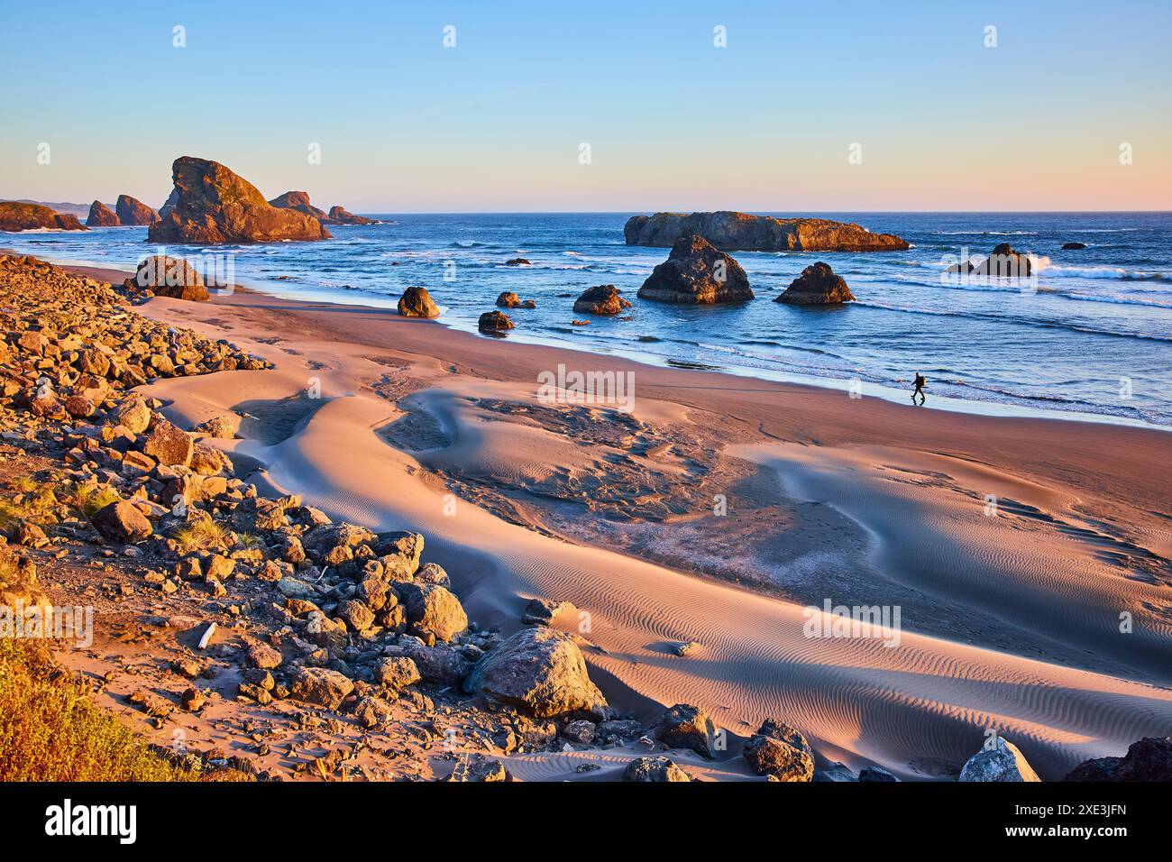
<svg viewBox="0 0 1172 862"><path fill-rule="evenodd" d="M476 664L464 691L537 718L606 707L578 644L565 632L545 627L523 629L502 642Z"/></svg>

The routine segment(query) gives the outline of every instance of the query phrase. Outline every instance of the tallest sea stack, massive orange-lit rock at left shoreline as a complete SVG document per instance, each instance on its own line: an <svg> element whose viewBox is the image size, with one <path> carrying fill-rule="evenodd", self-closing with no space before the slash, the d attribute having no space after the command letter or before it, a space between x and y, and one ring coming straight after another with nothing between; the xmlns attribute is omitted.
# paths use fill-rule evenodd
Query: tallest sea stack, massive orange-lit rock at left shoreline
<svg viewBox="0 0 1172 862"><path fill-rule="evenodd" d="M268 243L328 239L314 216L273 206L252 183L223 164L192 156L175 159L175 190L161 219L148 229L151 243Z"/></svg>

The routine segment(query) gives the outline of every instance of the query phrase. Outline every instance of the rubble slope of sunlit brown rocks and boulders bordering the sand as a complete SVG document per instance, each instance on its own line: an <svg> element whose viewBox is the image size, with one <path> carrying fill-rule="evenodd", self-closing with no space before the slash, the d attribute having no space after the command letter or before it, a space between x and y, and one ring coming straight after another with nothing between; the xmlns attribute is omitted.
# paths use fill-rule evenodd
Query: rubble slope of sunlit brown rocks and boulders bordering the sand
<svg viewBox="0 0 1172 862"><path fill-rule="evenodd" d="M820 760L781 717L745 739L689 704L653 720L624 713L564 627L568 603L534 599L529 627L505 634L469 619L448 572L425 559L423 535L264 496L217 448L239 433L239 415L184 429L134 389L267 364L137 314L131 303L149 296L0 257L4 475L32 480L12 478L6 491L0 589L2 604L46 606L45 581L100 562L107 616L152 646L129 679L109 671L97 685L123 686L122 703L156 728L184 717L233 740L169 755L214 780L498 781L510 778L509 756L567 749L624 758L628 781L689 780L696 758L738 758L775 781L895 780ZM95 595L91 570L73 577ZM175 633L166 649L165 632ZM1166 774L1170 747L1144 740L1072 779ZM975 754L961 778L1036 780L1008 742Z"/></svg>

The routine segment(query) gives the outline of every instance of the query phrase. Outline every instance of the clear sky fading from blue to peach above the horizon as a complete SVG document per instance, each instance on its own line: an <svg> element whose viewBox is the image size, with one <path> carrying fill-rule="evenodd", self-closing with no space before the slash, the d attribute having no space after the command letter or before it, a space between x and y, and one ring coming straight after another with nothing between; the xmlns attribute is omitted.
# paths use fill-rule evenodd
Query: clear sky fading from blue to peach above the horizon
<svg viewBox="0 0 1172 862"><path fill-rule="evenodd" d="M195 155L357 212L1172 209L1163 0L4 0L2 18L0 199L158 206Z"/></svg>

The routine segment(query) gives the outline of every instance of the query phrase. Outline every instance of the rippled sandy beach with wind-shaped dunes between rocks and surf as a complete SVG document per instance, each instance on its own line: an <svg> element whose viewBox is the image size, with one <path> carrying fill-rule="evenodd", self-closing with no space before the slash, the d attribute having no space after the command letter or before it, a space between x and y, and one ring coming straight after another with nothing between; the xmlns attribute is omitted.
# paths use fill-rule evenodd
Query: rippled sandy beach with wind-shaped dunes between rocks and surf
<svg viewBox="0 0 1172 862"><path fill-rule="evenodd" d="M730 755L779 715L825 761L942 778L993 728L1059 779L1172 728L1164 432L851 399L247 290L138 311L275 365L145 389L184 428L244 415L244 439L217 443L251 481L425 534L483 624L572 602L559 624L612 704L700 705ZM539 400L559 365L631 373L632 409ZM811 637L805 609L827 602L898 609L898 643ZM509 769L566 778L582 756Z"/></svg>

